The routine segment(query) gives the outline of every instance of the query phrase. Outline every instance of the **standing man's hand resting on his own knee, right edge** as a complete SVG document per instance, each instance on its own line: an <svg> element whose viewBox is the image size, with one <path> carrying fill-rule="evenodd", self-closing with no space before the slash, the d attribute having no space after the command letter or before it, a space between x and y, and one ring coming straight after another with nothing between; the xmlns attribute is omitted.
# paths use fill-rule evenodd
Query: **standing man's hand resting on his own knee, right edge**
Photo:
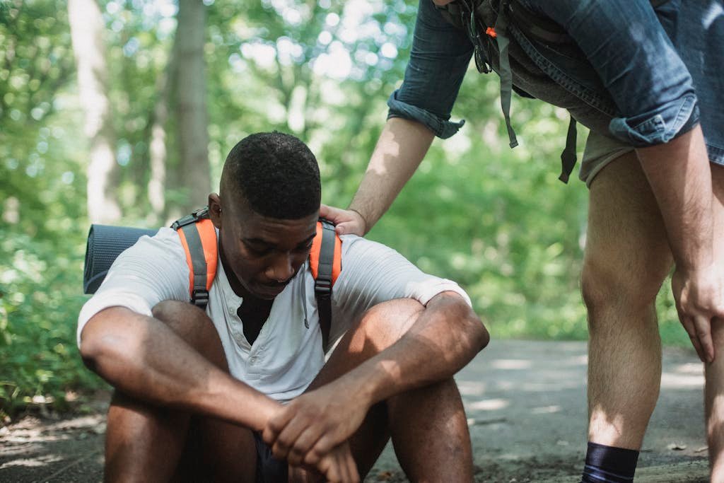
<svg viewBox="0 0 724 483"><path fill-rule="evenodd" d="M679 320L699 358L713 362L712 319L724 319L724 280L716 264L687 272L676 269L671 279Z"/></svg>

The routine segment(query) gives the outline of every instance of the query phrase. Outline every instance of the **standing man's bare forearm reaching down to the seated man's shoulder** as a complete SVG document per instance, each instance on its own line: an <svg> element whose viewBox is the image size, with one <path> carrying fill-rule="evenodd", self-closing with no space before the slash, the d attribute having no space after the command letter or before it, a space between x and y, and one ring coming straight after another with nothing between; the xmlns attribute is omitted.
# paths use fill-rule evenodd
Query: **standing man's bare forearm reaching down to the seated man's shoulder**
<svg viewBox="0 0 724 483"><path fill-rule="evenodd" d="M384 125L365 175L350 203L362 215L365 231L390 208L425 157L434 134L419 122L392 117Z"/></svg>

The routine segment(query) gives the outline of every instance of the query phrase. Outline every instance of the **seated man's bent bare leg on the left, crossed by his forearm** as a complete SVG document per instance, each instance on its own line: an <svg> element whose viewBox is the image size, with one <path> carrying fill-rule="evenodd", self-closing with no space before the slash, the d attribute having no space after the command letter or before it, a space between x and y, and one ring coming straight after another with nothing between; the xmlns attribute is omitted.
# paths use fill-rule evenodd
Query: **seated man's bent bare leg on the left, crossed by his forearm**
<svg viewBox="0 0 724 483"><path fill-rule="evenodd" d="M154 316L227 370L216 330L198 308L164 302L154 308ZM118 392L108 414L105 480L254 481L256 448L250 430L217 419L195 418L189 433L189 421L188 412L153 406ZM195 444L189 446L188 438Z"/></svg>

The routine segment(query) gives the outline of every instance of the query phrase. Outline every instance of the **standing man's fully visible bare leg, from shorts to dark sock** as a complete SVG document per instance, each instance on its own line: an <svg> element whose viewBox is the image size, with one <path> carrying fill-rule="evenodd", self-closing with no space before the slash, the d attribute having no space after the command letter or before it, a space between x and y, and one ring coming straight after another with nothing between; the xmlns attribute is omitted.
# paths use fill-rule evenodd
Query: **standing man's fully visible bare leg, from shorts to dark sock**
<svg viewBox="0 0 724 483"><path fill-rule="evenodd" d="M589 314L589 441L639 450L656 405L661 342L654 302L673 263L633 152L594 180L581 285Z"/></svg>

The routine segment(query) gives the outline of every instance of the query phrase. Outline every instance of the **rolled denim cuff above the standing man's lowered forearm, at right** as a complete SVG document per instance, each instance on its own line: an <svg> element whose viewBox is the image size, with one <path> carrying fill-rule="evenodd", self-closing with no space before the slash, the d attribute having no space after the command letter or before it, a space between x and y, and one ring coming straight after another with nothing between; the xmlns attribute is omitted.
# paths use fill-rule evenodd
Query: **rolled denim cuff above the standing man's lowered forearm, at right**
<svg viewBox="0 0 724 483"><path fill-rule="evenodd" d="M615 138L634 148L668 143L699 123L696 96L687 94L652 112L633 117L614 117L608 125Z"/></svg>

